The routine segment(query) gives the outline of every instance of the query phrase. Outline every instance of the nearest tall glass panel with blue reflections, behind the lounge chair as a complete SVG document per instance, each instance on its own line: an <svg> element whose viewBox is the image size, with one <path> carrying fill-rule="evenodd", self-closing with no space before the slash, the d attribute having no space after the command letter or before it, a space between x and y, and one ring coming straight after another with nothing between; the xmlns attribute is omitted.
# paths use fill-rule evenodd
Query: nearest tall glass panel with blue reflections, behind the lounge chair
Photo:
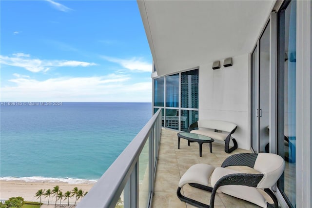
<svg viewBox="0 0 312 208"><path fill-rule="evenodd" d="M278 12L278 154L285 171L278 188L290 207L296 206L296 1Z"/></svg>

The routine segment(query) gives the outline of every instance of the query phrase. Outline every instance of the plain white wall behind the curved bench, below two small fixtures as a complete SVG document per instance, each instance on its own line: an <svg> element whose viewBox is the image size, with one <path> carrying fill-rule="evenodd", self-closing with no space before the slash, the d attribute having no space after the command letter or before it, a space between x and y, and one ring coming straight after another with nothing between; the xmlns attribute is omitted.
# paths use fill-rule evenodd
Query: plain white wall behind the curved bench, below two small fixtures
<svg viewBox="0 0 312 208"><path fill-rule="evenodd" d="M212 64L199 66L199 119L235 123L238 147L250 149L249 54L233 57L233 66L226 68L213 70Z"/></svg>

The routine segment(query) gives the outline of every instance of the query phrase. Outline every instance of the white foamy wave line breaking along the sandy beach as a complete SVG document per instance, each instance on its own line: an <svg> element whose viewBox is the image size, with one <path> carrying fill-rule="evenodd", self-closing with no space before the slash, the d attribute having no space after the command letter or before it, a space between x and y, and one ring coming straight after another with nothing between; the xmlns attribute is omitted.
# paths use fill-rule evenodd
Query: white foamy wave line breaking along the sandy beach
<svg viewBox="0 0 312 208"><path fill-rule="evenodd" d="M48 178L41 176L32 177L0 177L4 181L25 181L25 182L46 182L46 183L67 183L67 184L95 184L98 180L87 180L78 178Z"/></svg>

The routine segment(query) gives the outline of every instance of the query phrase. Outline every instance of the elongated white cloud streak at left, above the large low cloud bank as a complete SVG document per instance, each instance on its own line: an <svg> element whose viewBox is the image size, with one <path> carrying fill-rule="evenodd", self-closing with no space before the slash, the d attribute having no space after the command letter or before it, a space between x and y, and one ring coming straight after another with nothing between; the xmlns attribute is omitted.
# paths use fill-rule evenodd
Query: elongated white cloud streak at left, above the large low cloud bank
<svg viewBox="0 0 312 208"><path fill-rule="evenodd" d="M31 59L29 54L24 53L15 53L13 55L14 57L0 55L1 64L22 67L31 72L48 71L50 70L51 67L61 67L61 66L86 67L97 65L96 63L92 62Z"/></svg>

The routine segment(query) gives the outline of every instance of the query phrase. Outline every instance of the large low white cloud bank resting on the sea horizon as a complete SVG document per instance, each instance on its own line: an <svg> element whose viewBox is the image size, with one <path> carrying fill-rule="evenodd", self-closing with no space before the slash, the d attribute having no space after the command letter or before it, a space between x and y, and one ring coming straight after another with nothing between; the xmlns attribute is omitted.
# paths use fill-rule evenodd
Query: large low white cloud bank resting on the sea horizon
<svg viewBox="0 0 312 208"><path fill-rule="evenodd" d="M14 74L15 86L1 88L1 101L151 102L152 83L130 83L127 76L60 77L39 81Z"/></svg>

